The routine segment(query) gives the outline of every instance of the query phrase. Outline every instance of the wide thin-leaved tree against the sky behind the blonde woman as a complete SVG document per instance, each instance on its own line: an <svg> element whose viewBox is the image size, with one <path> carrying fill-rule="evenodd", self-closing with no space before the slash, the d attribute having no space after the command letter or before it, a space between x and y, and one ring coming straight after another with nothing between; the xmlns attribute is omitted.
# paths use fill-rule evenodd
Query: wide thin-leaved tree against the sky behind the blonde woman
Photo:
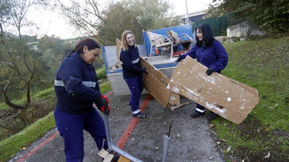
<svg viewBox="0 0 289 162"><path fill-rule="evenodd" d="M121 38L125 30L135 34L136 41L142 43L142 30L152 30L170 25L171 5L164 1L123 0L101 4L85 0L84 4L72 1L70 6L58 0L62 14L69 23L83 35L90 35L102 45L115 45L115 38Z"/></svg>

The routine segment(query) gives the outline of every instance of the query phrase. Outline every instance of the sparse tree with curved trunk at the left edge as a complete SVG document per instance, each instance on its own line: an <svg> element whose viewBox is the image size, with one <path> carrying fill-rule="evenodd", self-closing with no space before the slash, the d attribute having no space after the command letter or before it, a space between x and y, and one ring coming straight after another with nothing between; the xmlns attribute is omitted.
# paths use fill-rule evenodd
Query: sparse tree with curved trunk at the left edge
<svg viewBox="0 0 289 162"><path fill-rule="evenodd" d="M5 69L1 72L6 76L6 80L1 81L2 84L6 84L1 86L0 93L8 106L19 111L19 117L24 125L34 120L33 113L30 116L27 115L31 104L31 84L37 70L42 67L38 63L39 57L47 50L42 47L43 39L37 40L36 37L22 34L22 27L33 25L26 19L27 11L33 5L47 4L45 1L36 0L3 0L0 3L0 9L2 9L0 12L0 66L1 69ZM13 82L19 87L25 87L26 104L15 104L9 99L8 90Z"/></svg>

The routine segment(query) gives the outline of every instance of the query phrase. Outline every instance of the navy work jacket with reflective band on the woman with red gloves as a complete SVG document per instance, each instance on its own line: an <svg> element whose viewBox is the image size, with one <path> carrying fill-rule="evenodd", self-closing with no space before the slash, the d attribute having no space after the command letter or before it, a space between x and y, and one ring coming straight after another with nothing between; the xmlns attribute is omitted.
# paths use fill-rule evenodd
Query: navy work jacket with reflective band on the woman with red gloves
<svg viewBox="0 0 289 162"><path fill-rule="evenodd" d="M56 109L68 114L82 114L92 110L101 100L97 74L77 52L68 55L60 65L54 81Z"/></svg>

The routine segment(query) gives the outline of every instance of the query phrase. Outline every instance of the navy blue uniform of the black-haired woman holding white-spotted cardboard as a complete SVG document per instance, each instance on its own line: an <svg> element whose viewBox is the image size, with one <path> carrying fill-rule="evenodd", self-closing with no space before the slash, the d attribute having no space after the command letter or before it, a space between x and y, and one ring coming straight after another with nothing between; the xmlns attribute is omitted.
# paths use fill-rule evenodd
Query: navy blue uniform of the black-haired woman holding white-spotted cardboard
<svg viewBox="0 0 289 162"><path fill-rule="evenodd" d="M180 57L184 59L186 56L190 56L207 68L213 69L217 73L221 73L221 70L225 69L228 64L228 54L222 44L214 40L214 43L210 47L202 46L197 47L196 45L186 54ZM204 113L205 108L197 104L197 113Z"/></svg>

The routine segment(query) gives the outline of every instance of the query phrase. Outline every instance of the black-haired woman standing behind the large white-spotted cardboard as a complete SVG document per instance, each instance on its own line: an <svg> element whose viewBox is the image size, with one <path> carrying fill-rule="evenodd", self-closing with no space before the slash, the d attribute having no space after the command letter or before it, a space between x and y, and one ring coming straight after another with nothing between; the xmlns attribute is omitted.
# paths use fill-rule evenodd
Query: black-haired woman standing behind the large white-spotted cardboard
<svg viewBox="0 0 289 162"><path fill-rule="evenodd" d="M196 33L196 45L186 54L179 55L176 62L184 59L187 55L204 66L208 67L206 71L207 75L211 75L213 72L221 73L228 63L228 54L222 44L215 40L213 32L208 24L201 24L195 29ZM205 108L197 103L195 112L191 113L192 118L199 117L205 114ZM213 120L217 117L217 114L211 112L208 116L209 120Z"/></svg>

